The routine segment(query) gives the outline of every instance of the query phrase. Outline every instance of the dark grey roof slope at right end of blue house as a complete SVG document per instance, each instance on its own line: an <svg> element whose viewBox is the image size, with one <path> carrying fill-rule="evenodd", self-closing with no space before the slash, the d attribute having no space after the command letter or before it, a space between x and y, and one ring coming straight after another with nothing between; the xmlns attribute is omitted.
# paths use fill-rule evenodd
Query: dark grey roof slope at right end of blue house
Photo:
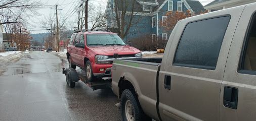
<svg viewBox="0 0 256 121"><path fill-rule="evenodd" d="M191 1L186 0L190 8L195 12L195 14L200 14L201 12L205 11L203 5L199 1Z"/></svg>

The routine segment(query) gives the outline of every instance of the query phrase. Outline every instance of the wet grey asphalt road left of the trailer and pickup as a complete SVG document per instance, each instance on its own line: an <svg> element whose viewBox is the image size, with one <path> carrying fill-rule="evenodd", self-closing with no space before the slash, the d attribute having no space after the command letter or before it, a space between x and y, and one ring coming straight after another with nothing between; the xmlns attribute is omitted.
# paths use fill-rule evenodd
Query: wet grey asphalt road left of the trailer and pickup
<svg viewBox="0 0 256 121"><path fill-rule="evenodd" d="M25 53L0 76L0 120L121 120L111 89L93 91L81 81L66 85L66 59Z"/></svg>

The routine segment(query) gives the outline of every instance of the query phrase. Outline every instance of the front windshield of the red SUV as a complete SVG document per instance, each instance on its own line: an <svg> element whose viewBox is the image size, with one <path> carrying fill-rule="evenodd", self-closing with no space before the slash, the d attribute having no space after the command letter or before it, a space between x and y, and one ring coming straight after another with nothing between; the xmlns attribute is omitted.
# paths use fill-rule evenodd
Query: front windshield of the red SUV
<svg viewBox="0 0 256 121"><path fill-rule="evenodd" d="M117 34L88 34L87 45L126 45Z"/></svg>

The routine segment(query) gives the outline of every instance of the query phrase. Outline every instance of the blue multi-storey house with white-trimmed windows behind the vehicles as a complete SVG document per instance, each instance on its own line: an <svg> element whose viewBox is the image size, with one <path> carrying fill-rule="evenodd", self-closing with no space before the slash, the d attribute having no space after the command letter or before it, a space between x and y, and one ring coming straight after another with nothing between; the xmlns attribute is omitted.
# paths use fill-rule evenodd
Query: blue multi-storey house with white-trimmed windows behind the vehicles
<svg viewBox="0 0 256 121"><path fill-rule="evenodd" d="M120 10L119 8L117 9ZM127 10L129 11L129 9ZM165 15L169 11L187 12L187 10L190 10L190 12L194 15L205 11L199 1L136 0L134 5L133 26L130 28L129 33L124 38L124 40L128 41L130 39L138 38L146 34L151 34L152 40L156 40L157 37L161 37L163 40L167 40L171 31L164 31L164 28L159 25L159 22L167 19L167 16ZM114 17L114 0L108 0L105 14L107 18L107 28L117 28L117 22Z"/></svg>

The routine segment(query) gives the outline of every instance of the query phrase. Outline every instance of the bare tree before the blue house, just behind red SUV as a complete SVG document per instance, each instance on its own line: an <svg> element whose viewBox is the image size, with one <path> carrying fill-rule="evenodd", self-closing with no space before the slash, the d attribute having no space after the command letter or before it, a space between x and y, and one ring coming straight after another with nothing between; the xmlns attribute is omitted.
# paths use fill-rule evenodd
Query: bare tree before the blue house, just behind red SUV
<svg viewBox="0 0 256 121"><path fill-rule="evenodd" d="M142 6L136 6L136 0L114 0L114 5L107 7L111 9L111 12L108 12L106 16L107 21L114 21L112 27L107 27L117 32L122 38L125 38L127 35L136 34L134 31L130 31L132 27L138 26L138 23L141 21L141 14L144 12L138 12L137 9L141 9Z"/></svg>

